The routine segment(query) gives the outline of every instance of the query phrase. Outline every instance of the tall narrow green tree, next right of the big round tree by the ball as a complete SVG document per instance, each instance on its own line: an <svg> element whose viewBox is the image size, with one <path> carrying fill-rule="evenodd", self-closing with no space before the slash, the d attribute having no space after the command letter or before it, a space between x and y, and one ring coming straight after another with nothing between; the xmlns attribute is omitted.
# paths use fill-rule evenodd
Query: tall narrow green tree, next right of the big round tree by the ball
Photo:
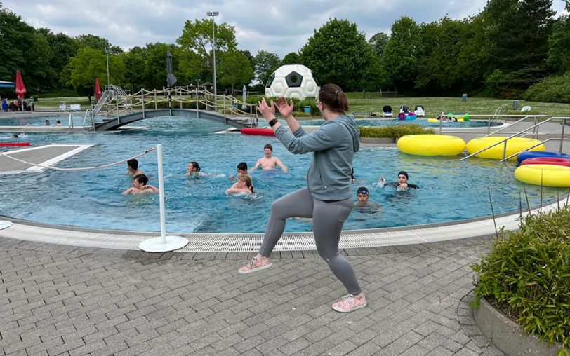
<svg viewBox="0 0 570 356"><path fill-rule="evenodd" d="M420 27L411 18L402 16L392 25L392 36L380 57L385 84L404 92L414 88L419 71L419 48Z"/></svg>

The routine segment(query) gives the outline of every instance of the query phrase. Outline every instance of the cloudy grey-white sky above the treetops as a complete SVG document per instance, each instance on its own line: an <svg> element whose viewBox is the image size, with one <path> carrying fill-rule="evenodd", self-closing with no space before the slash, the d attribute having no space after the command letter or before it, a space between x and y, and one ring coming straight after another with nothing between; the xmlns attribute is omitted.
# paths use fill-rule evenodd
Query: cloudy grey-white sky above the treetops
<svg viewBox="0 0 570 356"><path fill-rule="evenodd" d="M284 57L300 50L329 18L355 22L369 39L390 33L403 15L432 22L448 14L463 19L482 11L486 0L0 0L33 27L69 36L93 34L128 50L146 43L175 43L187 20L218 11L217 23L235 27L238 48L256 55L268 50ZM564 13L564 1L553 8Z"/></svg>

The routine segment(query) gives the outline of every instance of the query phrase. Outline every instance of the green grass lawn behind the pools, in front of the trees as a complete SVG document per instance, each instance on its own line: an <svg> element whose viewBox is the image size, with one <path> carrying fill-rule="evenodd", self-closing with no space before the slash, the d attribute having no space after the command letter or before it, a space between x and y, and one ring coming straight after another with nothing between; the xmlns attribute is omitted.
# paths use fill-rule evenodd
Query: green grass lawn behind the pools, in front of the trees
<svg viewBox="0 0 570 356"><path fill-rule="evenodd" d="M435 118L441 111L470 114L494 114L501 104L507 104L507 114L519 114L520 111L512 111L512 100L493 99L489 97L468 97L466 102L461 97L379 97L378 93L347 93L350 104L350 112L373 112L382 116L382 107L390 105L394 113L398 112L400 105L406 104L413 109L416 105L423 105L425 117ZM370 96L370 98L369 98ZM35 102L39 109L58 109L58 104L81 104L83 109L89 107L88 97L47 97L40 98ZM550 102L529 102L520 100L519 110L524 105L532 107L531 114L543 114L548 116L570 116L570 104ZM505 114L505 111L503 111Z"/></svg>

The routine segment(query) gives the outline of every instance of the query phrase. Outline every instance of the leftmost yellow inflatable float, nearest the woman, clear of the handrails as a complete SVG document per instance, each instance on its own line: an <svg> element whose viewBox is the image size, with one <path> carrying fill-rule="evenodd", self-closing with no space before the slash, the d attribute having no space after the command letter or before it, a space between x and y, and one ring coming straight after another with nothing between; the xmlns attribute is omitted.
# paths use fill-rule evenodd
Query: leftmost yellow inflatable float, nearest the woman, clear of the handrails
<svg viewBox="0 0 570 356"><path fill-rule="evenodd" d="M465 150L465 141L449 135L407 135L400 137L396 146L417 156L457 156Z"/></svg>

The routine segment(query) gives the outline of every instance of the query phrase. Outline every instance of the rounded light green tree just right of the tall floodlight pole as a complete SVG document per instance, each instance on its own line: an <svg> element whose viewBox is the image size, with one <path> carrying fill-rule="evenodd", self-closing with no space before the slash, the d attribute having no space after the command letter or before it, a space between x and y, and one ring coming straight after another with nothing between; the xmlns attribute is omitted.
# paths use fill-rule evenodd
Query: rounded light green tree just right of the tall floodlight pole
<svg viewBox="0 0 570 356"><path fill-rule="evenodd" d="M236 85L247 85L253 79L254 73L251 63L244 53L239 50L228 50L220 55L219 69L220 83L229 85L232 93Z"/></svg>

